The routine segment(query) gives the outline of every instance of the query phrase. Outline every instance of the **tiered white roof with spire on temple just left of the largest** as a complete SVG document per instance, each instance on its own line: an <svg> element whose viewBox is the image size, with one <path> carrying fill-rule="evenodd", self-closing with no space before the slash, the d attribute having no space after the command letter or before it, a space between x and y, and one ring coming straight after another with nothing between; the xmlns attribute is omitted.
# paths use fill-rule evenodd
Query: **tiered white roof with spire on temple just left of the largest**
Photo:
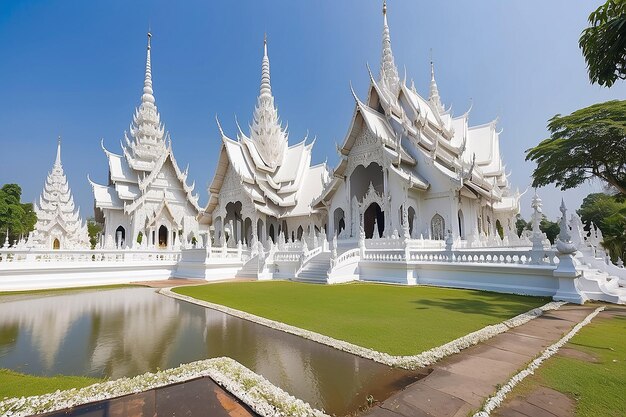
<svg viewBox="0 0 626 417"><path fill-rule="evenodd" d="M218 121L222 146L209 186L210 197L205 210L209 218L219 204L224 182L229 180L226 178L229 168L244 190L240 199L248 199L256 210L275 217L310 214L311 202L328 181L325 163L310 166L315 141L307 144L304 138L295 145L288 144L288 134L281 126L272 95L267 39L263 49L261 87L250 135L239 128L237 139L230 139Z"/></svg>

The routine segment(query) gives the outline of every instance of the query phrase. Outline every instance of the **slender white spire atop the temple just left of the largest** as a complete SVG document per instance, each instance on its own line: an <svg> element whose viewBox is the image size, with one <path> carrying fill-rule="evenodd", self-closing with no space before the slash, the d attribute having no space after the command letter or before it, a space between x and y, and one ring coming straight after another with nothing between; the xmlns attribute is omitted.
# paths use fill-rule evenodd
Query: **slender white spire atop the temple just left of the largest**
<svg viewBox="0 0 626 417"><path fill-rule="evenodd" d="M254 120L250 126L250 137L267 166L276 168L282 163L287 147L287 134L281 126L278 110L274 106L270 83L270 60L267 56L267 36L263 40L261 88L254 109Z"/></svg>

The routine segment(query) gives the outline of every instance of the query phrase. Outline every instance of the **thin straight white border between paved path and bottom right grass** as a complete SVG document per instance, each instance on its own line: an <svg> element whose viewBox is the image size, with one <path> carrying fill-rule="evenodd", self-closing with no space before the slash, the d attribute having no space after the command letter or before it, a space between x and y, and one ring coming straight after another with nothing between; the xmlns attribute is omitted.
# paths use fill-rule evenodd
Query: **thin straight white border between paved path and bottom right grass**
<svg viewBox="0 0 626 417"><path fill-rule="evenodd" d="M580 331L580 329L589 324L595 316L597 316L601 311L604 310L604 308L604 306L596 308L593 313L589 314L587 317L584 318L583 321L574 326L572 330L570 330L569 333L563 336L563 338L561 338L558 342L551 346L548 346L539 357L537 357L530 363L530 365L528 365L528 367L514 375L509 380L509 382L504 384L504 386L500 388L493 396L489 397L485 402L485 405L483 405L483 408L479 412L474 414L473 417L489 417L491 415L491 412L498 408L500 404L502 404L507 394L511 392L511 390L517 384L522 382L527 376L534 374L537 368L539 368L539 366L546 359L557 353L563 345L569 342L569 340L574 337L576 333Z"/></svg>

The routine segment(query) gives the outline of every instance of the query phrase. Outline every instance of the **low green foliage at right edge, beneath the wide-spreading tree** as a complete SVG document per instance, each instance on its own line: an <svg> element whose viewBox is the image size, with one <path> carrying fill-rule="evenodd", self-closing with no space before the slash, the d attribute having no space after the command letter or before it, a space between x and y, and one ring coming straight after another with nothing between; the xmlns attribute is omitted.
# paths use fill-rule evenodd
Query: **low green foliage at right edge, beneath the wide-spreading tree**
<svg viewBox="0 0 626 417"><path fill-rule="evenodd" d="M604 193L589 194L577 211L587 230L591 222L600 228L602 246L615 261L626 259L626 200L622 196Z"/></svg>

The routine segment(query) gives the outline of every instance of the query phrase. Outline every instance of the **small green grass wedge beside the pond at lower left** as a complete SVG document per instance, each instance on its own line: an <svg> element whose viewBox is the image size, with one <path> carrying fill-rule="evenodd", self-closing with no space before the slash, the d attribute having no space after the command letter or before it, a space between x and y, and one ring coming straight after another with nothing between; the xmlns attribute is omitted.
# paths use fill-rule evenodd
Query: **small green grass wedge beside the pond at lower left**
<svg viewBox="0 0 626 417"><path fill-rule="evenodd" d="M28 397L56 390L82 388L102 381L102 379L82 376L42 377L0 369L0 401L5 397Z"/></svg>

